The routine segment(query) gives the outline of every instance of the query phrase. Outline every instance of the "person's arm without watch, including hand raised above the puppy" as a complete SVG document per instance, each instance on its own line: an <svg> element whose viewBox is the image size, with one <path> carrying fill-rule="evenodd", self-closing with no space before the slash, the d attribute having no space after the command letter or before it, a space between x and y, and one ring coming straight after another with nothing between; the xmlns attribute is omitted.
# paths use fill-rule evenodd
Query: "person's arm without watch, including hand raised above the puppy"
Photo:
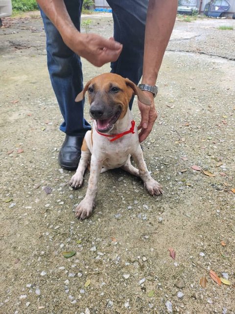
<svg viewBox="0 0 235 314"><path fill-rule="evenodd" d="M71 21L64 0L37 0L37 2L73 52L97 67L118 59L122 45L113 38L108 40L96 34L80 33Z"/></svg>

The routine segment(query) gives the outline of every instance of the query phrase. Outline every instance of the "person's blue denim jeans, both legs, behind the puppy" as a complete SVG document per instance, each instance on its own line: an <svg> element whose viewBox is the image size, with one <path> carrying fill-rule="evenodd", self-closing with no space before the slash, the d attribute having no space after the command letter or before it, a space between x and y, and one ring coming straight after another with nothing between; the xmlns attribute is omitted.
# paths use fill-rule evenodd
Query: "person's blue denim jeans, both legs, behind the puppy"
<svg viewBox="0 0 235 314"><path fill-rule="evenodd" d="M64 1L73 24L80 31L82 0ZM114 38L123 45L118 60L111 62L111 72L138 84L142 76L148 0L108 0L108 3L113 11ZM64 118L60 130L68 135L84 136L91 129L83 117L84 101L74 101L83 89L80 57L64 44L58 30L42 10L41 15L47 36L47 67Z"/></svg>

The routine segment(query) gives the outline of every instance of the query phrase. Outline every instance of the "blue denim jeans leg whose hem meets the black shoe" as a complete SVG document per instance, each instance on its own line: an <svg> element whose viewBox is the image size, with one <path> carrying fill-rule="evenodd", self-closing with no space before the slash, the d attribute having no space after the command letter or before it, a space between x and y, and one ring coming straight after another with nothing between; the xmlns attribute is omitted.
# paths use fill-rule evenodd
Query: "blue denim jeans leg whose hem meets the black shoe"
<svg viewBox="0 0 235 314"><path fill-rule="evenodd" d="M80 30L82 1L65 0L65 4L71 20ZM80 57L65 45L58 30L42 10L41 15L47 36L48 72L64 118L60 130L68 135L83 136L91 127L83 117L84 101L74 101L83 89Z"/></svg>

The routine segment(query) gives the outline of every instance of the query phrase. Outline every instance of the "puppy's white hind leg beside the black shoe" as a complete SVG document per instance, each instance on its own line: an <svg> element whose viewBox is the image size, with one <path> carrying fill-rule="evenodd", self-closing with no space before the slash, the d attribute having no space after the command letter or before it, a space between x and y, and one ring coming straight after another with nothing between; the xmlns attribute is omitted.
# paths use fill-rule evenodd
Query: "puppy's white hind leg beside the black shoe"
<svg viewBox="0 0 235 314"><path fill-rule="evenodd" d="M83 176L88 164L91 160L91 152L86 144L86 139L84 138L82 148L81 148L81 158L77 167L75 174L71 177L70 186L77 189L82 186Z"/></svg>

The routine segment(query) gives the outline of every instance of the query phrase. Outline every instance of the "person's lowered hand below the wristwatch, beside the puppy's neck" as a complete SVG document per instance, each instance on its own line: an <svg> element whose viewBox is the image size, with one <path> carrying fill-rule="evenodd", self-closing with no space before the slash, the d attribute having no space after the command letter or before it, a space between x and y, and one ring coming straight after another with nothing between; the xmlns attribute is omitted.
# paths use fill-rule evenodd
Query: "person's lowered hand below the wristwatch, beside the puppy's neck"
<svg viewBox="0 0 235 314"><path fill-rule="evenodd" d="M145 92L145 95L150 99L151 105L144 105L138 100L138 106L141 111L141 122L138 126L140 143L147 138L149 133L152 131L155 120L158 117L157 111L154 105L153 94L150 92Z"/></svg>

